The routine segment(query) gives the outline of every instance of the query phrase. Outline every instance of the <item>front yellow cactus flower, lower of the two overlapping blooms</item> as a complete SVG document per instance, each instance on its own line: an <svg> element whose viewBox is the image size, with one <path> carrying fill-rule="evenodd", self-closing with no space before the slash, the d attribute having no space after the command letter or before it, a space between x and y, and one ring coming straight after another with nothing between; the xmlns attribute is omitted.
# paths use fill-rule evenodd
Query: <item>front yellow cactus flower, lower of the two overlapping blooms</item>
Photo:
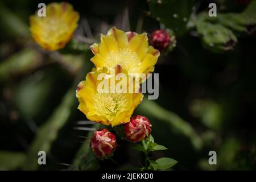
<svg viewBox="0 0 256 182"><path fill-rule="evenodd" d="M118 73L125 73L127 75L127 72L119 65L114 69L115 75L118 75ZM106 73L103 80L98 80L100 73ZM102 81L110 81L111 77L112 75L110 75L108 68L88 73L86 80L81 81L77 86L76 97L80 102L78 109L88 119L104 125L115 126L130 121L134 109L142 102L143 94L139 92L99 92L100 83ZM117 84L117 80L115 80L115 84ZM127 86L130 85L133 84L127 83ZM113 85L109 85L109 89L113 89Z"/></svg>

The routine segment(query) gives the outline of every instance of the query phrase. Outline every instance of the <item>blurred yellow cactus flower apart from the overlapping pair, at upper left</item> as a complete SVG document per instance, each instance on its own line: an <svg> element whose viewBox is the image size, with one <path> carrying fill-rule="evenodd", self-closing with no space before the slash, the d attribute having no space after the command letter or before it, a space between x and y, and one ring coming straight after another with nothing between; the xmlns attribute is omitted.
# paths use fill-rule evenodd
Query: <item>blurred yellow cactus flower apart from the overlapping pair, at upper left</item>
<svg viewBox="0 0 256 182"><path fill-rule="evenodd" d="M69 3L49 3L46 16L30 16L31 36L44 49L56 51L71 40L78 20L79 13Z"/></svg>

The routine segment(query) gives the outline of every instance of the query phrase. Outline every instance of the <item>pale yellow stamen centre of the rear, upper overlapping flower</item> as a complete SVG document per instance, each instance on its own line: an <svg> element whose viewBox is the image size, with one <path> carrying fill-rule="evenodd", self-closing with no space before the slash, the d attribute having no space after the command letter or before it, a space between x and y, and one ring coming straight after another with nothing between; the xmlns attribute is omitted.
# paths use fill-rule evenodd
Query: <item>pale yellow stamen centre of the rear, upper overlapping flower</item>
<svg viewBox="0 0 256 182"><path fill-rule="evenodd" d="M118 51L108 53L105 59L106 67L113 68L117 64L121 65L123 69L126 69L131 74L140 73L139 65L141 64L141 60L137 56L137 53L130 49L119 49Z"/></svg>

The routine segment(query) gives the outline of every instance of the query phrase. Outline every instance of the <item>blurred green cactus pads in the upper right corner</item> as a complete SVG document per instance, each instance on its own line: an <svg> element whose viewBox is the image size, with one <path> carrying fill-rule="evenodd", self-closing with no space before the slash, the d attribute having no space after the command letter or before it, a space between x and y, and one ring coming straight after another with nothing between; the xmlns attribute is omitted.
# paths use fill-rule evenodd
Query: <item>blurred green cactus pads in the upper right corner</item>
<svg viewBox="0 0 256 182"><path fill-rule="evenodd" d="M255 9L256 2L253 1L242 13L218 13L217 16L210 17L203 12L192 18L190 23L195 24L206 48L223 52L236 46L237 36L232 30L251 34L250 28L256 24Z"/></svg>

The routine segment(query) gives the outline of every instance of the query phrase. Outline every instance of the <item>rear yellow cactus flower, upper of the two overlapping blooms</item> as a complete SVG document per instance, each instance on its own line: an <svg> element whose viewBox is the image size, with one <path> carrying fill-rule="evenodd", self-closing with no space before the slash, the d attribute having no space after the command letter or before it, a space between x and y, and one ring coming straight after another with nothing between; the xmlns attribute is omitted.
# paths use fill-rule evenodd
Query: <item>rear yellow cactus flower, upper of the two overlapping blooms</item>
<svg viewBox="0 0 256 182"><path fill-rule="evenodd" d="M115 27L107 35L101 35L101 43L94 43L90 49L94 54L91 61L97 69L121 65L129 74L139 77L154 71L160 55L158 50L148 46L146 33L123 32Z"/></svg>

